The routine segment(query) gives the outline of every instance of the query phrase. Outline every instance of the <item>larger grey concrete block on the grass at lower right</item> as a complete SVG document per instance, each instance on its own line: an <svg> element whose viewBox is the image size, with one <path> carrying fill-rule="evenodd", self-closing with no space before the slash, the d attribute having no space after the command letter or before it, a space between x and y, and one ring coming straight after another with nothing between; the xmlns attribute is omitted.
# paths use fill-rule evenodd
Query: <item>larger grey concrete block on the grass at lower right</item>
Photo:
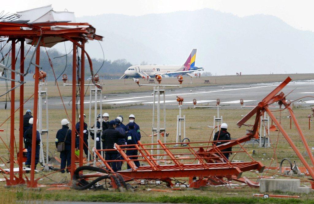
<svg viewBox="0 0 314 204"><path fill-rule="evenodd" d="M268 191L297 192L300 188L300 179L261 179L259 191L261 193Z"/></svg>

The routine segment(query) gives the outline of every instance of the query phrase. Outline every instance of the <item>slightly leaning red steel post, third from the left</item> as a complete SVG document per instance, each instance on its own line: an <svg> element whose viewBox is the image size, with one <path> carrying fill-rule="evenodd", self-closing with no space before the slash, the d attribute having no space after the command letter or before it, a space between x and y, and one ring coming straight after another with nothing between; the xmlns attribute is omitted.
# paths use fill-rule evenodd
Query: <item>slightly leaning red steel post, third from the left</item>
<svg viewBox="0 0 314 204"><path fill-rule="evenodd" d="M38 40L38 39L37 39ZM36 47L36 65L39 65L40 60L40 46ZM34 86L34 122L33 122L33 132L32 132L32 154L30 162L30 183L28 187L37 187L37 182L35 181L35 153L36 153L36 131L37 131L37 109L38 109L38 84L39 84L39 67L35 66L35 86Z"/></svg>

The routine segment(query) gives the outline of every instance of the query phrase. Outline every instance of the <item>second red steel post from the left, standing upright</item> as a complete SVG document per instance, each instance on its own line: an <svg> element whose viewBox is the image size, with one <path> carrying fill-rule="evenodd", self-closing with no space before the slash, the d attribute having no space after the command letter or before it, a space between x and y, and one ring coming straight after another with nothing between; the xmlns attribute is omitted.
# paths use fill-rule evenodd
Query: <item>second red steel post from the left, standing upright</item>
<svg viewBox="0 0 314 204"><path fill-rule="evenodd" d="M20 53L20 81L24 81L24 39L20 39L21 42L21 53ZM20 86L20 112L19 112L19 182L20 184L25 183L23 179L23 112L24 112L24 84Z"/></svg>

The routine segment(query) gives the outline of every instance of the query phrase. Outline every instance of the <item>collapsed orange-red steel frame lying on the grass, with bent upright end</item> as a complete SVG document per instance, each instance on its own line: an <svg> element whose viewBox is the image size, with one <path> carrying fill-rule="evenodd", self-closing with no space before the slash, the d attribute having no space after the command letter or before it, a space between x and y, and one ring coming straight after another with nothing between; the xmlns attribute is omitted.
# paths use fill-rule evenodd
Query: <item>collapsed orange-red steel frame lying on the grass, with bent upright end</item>
<svg viewBox="0 0 314 204"><path fill-rule="evenodd" d="M241 145L242 143L254 138L257 130L258 125L260 122L260 116L263 115L263 112L267 112L269 116L272 118L274 123L279 128L280 132L284 135L285 139L291 145L295 153L300 158L303 165L309 171L309 174L314 178L314 173L310 165L306 162L302 154L300 153L299 149L296 148L293 141L290 139L288 134L285 132L279 121L275 118L272 111L269 110L268 106L275 102L278 102L280 106L284 105L290 112L292 119L294 120L295 126L298 130L298 133L302 139L302 142L306 148L308 155L314 165L314 158L311 154L311 150L309 149L308 144L306 143L306 139L300 129L300 126L295 118L295 115L290 107L290 103L286 102L285 95L283 92L280 92L284 86L286 86L291 81L290 77L284 80L277 88L275 88L268 96L266 96L262 102L259 102L258 105L249 112L245 117L243 117L238 123L238 127L241 127L246 121L248 121L252 116L256 114L255 123L253 125L252 130L248 130L246 136L234 139L234 140L225 140L227 143L221 145L215 145L215 141L203 141L203 142L187 142L187 143L179 143L185 144L185 147L173 147L176 143L162 143L158 140L158 143L155 144L142 144L138 141L136 145L117 145L115 144L115 149L93 149L96 152L100 160L104 163L105 167L108 169L106 170L107 173L111 172L113 175L121 175L124 181L130 180L138 180L138 179L147 179L147 180L162 180L167 182L170 186L171 178L178 178L178 177L190 177L190 187L199 187L199 186L206 186L208 183L213 185L218 184L228 184L229 181L235 180L238 182L246 183L248 186L251 187L258 187L257 183L254 183L246 178L241 178L241 174L244 171L249 170L259 170L259 172L263 172L264 167L260 162L255 161L243 148ZM280 93L279 93L280 92ZM279 94L278 94L279 93ZM206 145L207 143L207 145ZM210 145L212 143L212 145ZM205 144L205 145L204 145ZM159 150L163 151L164 153L161 154L153 154L150 153L151 150L156 151L157 148L150 148L151 146L160 145ZM223 149L227 149L229 147L233 147L235 145L239 145L239 151L232 151L232 153L239 153L244 152L246 153L252 161L250 162L231 162L226 160L224 154L222 154ZM206 148L206 149L205 149ZM173 150L176 149L176 153ZM196 150L197 149L197 150ZM140 157L143 159L133 159L132 155L128 156L125 153L125 150L137 150L140 154ZM188 152L182 152L183 150L188 150ZM121 154L122 159L120 160L105 160L101 156L102 151L118 151ZM152 151L152 152L153 152ZM225 152L227 153L227 152ZM230 152L231 153L231 152ZM184 157L180 155L185 155ZM164 157L163 159L156 159L159 157ZM169 157L169 159L166 159ZM192 160L192 161L191 161ZM115 161L122 161L126 162L131 169L129 170L121 170L117 171L116 173L113 172L110 162ZM134 161L139 162L146 162L148 165L142 165L136 167ZM184 162L185 161L185 162ZM190 162L187 162L190 161ZM164 163L162 165L161 163ZM100 172L105 172L102 169ZM78 175L79 172L76 172ZM92 177L99 177L104 176L106 174L89 174L83 175L80 173L79 179L88 179ZM192 179L193 177L198 177L198 179ZM223 178L226 178L228 181L224 181ZM115 181L111 178L112 184L114 187ZM311 182L311 181L310 181ZM84 184L84 183L83 183ZM86 183L85 183L86 184ZM79 185L79 183L76 183ZM311 182L312 188L313 182Z"/></svg>

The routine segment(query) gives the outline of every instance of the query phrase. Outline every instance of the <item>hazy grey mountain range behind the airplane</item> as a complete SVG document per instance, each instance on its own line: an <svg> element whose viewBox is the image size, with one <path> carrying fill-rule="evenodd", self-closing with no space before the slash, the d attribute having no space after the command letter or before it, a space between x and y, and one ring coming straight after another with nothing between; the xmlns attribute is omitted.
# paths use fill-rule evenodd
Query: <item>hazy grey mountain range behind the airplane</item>
<svg viewBox="0 0 314 204"><path fill-rule="evenodd" d="M313 72L314 33L270 15L238 17L201 9L143 16L102 14L77 22L88 22L104 36L105 59L182 65L197 48L195 65L214 75ZM103 58L98 42L89 42L86 49L92 57Z"/></svg>

